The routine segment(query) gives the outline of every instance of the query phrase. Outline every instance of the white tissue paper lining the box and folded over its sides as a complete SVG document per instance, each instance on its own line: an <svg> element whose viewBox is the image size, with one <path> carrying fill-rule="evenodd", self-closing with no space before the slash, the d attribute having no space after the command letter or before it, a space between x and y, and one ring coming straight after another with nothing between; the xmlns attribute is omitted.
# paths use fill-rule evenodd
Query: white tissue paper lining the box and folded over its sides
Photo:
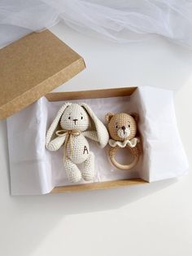
<svg viewBox="0 0 192 256"><path fill-rule="evenodd" d="M133 178L153 182L187 173L188 162L177 130L172 91L144 86L131 96L70 101L89 104L103 122L109 112L139 115L143 155L133 170L117 170L108 159L109 146L101 149L89 140L95 155L94 182ZM63 148L57 152L45 148L46 130L63 103L48 102L42 97L7 118L12 195L45 194L56 186L71 184L65 176ZM129 161L126 153L125 150L118 156L120 162Z"/></svg>

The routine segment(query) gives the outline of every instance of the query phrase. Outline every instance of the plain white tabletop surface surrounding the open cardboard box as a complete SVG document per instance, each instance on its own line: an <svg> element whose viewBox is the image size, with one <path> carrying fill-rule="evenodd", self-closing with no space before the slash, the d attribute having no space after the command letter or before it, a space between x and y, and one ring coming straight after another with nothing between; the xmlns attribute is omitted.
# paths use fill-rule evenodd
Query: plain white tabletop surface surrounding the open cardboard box
<svg viewBox="0 0 192 256"><path fill-rule="evenodd" d="M192 51L163 38L118 45L56 25L86 70L58 90L166 86L192 160ZM164 99L162 99L164 104ZM166 159L162 159L166 161ZM6 121L0 121L1 256L191 256L192 174L106 191L11 197Z"/></svg>

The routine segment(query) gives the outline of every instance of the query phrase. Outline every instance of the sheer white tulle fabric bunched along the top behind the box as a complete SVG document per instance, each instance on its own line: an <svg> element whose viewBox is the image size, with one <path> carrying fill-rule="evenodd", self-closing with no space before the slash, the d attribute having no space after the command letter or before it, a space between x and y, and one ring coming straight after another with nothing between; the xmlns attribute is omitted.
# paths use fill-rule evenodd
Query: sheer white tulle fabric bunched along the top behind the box
<svg viewBox="0 0 192 256"><path fill-rule="evenodd" d="M140 42L159 34L192 46L190 0L1 0L0 46L60 20L114 42Z"/></svg>

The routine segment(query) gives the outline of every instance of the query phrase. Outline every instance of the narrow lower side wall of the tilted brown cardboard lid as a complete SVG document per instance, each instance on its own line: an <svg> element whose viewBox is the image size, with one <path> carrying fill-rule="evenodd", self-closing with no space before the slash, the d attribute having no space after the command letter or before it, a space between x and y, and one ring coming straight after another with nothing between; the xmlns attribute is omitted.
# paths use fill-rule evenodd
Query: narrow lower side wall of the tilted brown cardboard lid
<svg viewBox="0 0 192 256"><path fill-rule="evenodd" d="M62 85L64 82L68 82L68 80L76 76L77 73L80 73L84 68L85 61L81 57L79 60L70 64L67 68L63 68L59 73L55 73L54 76L47 78L45 81L33 87L32 90L25 91L24 94L16 97L0 108L0 120L19 112L30 104L33 104L33 102L49 93L55 87Z"/></svg>

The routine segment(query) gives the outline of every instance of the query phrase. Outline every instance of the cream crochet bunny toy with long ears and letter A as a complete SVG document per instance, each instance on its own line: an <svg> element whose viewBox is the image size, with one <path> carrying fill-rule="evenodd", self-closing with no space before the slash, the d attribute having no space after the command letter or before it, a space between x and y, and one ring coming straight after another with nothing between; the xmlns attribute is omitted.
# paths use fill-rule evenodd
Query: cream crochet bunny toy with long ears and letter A
<svg viewBox="0 0 192 256"><path fill-rule="evenodd" d="M63 104L46 133L46 148L56 151L63 145L63 164L72 183L79 182L81 178L93 180L95 176L94 153L89 150L85 137L98 142L101 148L109 139L103 122L87 104ZM82 171L76 166L79 164L83 164Z"/></svg>

